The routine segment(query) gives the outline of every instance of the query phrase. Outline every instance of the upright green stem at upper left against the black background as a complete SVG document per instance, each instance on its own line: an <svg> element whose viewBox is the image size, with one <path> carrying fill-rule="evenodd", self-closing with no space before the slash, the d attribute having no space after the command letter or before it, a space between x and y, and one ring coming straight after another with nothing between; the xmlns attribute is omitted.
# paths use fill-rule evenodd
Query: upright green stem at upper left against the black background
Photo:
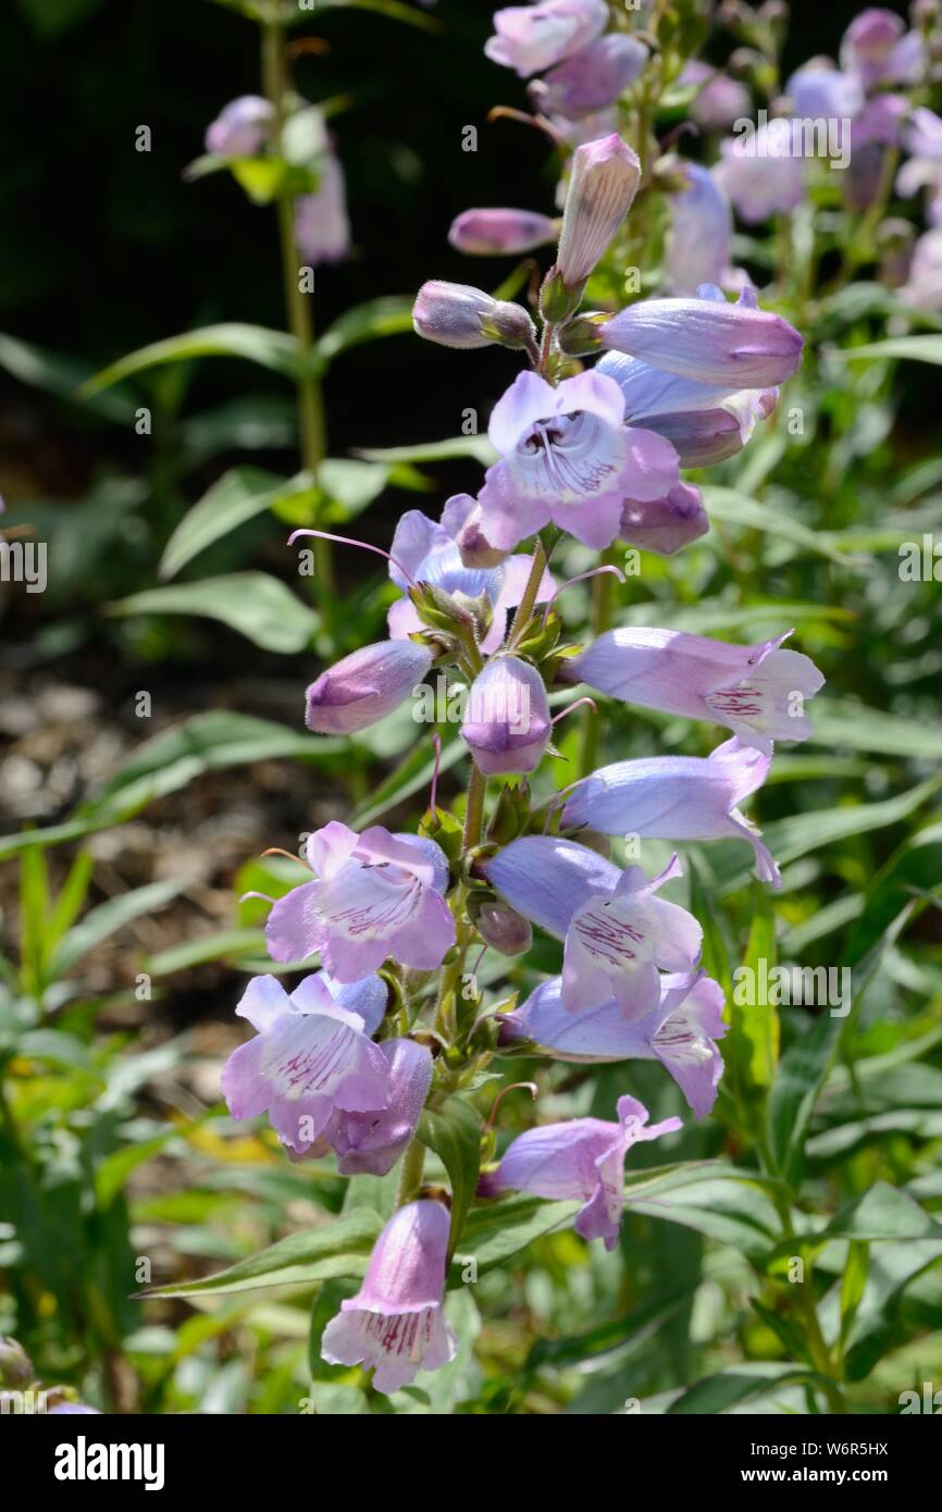
<svg viewBox="0 0 942 1512"><path fill-rule="evenodd" d="M284 30L278 17L266 21L262 33L262 76L265 92L275 112L274 141L278 144L280 151L289 82ZM304 472L310 475L313 487L316 487L321 463L327 455L327 420L321 384L315 378L315 322L310 298L299 286L301 254L295 237L295 203L290 194L278 195L278 239L281 243L281 277L284 281L287 324L298 343L295 387L298 392L301 463ZM316 519L313 523L316 525ZM331 543L315 537L313 550L318 584L330 591L334 584Z"/></svg>

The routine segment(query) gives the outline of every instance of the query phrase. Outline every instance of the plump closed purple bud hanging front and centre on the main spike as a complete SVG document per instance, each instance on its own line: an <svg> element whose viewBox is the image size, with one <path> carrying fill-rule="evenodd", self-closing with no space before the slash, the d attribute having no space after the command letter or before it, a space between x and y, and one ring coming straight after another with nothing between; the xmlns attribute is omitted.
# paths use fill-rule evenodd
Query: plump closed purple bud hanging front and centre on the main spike
<svg viewBox="0 0 942 1512"><path fill-rule="evenodd" d="M550 729L546 686L535 667L519 656L497 656L478 673L461 735L487 777L534 771Z"/></svg>

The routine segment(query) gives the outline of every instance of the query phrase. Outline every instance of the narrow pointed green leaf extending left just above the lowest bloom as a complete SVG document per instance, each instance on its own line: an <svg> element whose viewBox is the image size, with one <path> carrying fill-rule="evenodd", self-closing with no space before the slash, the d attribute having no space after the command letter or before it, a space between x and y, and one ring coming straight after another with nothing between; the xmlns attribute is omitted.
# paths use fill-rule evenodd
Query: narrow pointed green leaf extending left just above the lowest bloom
<svg viewBox="0 0 942 1512"><path fill-rule="evenodd" d="M147 1287L144 1297L231 1296L254 1287L302 1287L337 1276L361 1276L383 1220L369 1208L355 1208L307 1234L290 1234L259 1255L240 1259L200 1281Z"/></svg>

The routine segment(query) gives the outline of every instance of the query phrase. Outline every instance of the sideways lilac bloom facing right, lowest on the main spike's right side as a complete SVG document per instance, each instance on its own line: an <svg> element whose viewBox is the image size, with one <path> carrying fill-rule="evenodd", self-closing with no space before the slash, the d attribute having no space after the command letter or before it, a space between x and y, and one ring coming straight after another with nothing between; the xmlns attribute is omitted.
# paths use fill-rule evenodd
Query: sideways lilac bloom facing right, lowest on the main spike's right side
<svg viewBox="0 0 942 1512"><path fill-rule="evenodd" d="M582 1202L573 1225L576 1234L600 1238L606 1249L614 1249L624 1208L624 1157L632 1145L680 1128L680 1119L649 1125L647 1108L637 1098L618 1098L617 1113L617 1123L572 1119L528 1129L507 1148L478 1190L488 1198L532 1191L537 1198Z"/></svg>

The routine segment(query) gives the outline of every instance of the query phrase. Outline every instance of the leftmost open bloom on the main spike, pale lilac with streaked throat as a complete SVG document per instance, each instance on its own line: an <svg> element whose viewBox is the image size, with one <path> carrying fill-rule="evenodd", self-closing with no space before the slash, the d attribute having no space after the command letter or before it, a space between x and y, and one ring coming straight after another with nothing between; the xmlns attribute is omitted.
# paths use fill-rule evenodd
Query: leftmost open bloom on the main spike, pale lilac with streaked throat
<svg viewBox="0 0 942 1512"><path fill-rule="evenodd" d="M334 1108L384 1108L389 1061L370 1039L384 1012L380 977L342 986L318 972L290 995L277 977L253 977L236 1013L257 1034L222 1067L231 1116L268 1113L281 1143L304 1154Z"/></svg>

